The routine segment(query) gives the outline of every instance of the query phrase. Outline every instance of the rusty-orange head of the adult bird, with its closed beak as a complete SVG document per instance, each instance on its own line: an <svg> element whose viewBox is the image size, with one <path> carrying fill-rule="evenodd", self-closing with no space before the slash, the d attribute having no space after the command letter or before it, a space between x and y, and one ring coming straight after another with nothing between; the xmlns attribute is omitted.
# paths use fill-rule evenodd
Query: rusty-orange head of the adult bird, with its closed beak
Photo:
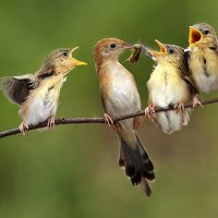
<svg viewBox="0 0 218 218"><path fill-rule="evenodd" d="M99 40L94 48L96 68L105 60L118 61L121 53L131 49L134 49L134 45L118 38L104 38Z"/></svg>

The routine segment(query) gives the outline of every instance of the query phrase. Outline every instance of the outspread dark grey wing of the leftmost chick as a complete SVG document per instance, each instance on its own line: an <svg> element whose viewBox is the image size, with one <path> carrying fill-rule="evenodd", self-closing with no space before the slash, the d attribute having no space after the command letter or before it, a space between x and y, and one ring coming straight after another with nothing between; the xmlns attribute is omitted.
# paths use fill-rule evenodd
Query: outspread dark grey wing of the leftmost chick
<svg viewBox="0 0 218 218"><path fill-rule="evenodd" d="M26 74L13 77L3 77L0 80L0 88L4 95L13 102L22 105L29 92L36 87L36 80L33 74Z"/></svg>

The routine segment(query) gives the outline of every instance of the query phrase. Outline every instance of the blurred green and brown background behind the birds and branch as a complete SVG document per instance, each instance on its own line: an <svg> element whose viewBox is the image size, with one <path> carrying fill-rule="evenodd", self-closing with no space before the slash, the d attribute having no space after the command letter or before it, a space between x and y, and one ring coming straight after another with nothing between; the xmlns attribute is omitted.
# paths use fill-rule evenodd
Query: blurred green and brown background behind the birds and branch
<svg viewBox="0 0 218 218"><path fill-rule="evenodd" d="M1 0L0 76L35 72L52 49L80 46L75 57L88 65L70 73L57 117L100 117L93 62L97 40L119 37L155 47L157 38L186 47L189 25L207 22L218 29L217 8L213 0ZM142 57L137 65L123 64L133 72L146 107L153 61ZM17 106L2 93L0 105L0 131L17 126ZM102 124L59 125L2 138L0 217L216 217L217 109L210 105L194 111L189 126L171 136L149 121L141 128L156 166L150 198L119 169L118 138Z"/></svg>

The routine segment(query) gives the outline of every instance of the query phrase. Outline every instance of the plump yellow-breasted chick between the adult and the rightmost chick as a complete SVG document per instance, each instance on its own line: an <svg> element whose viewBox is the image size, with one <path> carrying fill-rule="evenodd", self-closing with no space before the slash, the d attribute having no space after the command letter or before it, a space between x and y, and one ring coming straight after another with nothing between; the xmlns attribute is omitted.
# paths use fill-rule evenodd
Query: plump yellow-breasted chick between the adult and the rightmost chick
<svg viewBox="0 0 218 218"><path fill-rule="evenodd" d="M148 107L145 112L158 128L171 134L187 125L191 109L184 109L184 104L195 101L197 90L189 74L184 49L158 40L156 43L160 51L147 50L157 65L147 82ZM175 110L153 113L156 107L172 106Z"/></svg>

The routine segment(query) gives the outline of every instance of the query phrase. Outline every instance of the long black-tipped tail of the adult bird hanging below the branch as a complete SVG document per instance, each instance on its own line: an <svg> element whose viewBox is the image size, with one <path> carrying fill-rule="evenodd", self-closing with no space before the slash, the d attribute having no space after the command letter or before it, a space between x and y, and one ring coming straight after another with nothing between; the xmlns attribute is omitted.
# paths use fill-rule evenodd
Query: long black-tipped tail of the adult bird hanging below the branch
<svg viewBox="0 0 218 218"><path fill-rule="evenodd" d="M120 158L119 165L125 168L125 173L130 177L133 185L141 184L147 196L150 196L152 189L149 181L155 180L154 165L149 159L136 132L136 146L131 146L126 141L120 137Z"/></svg>

